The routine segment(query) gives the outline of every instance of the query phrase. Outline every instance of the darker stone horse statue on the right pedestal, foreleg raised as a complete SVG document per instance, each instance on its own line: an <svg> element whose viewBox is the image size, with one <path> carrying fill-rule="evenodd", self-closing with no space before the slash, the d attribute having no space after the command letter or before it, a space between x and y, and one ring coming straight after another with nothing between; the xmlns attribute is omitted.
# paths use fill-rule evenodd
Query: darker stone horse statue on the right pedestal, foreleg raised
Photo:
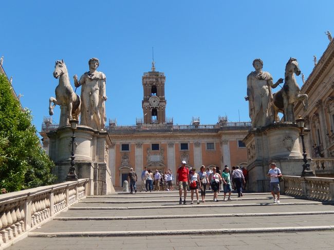
<svg viewBox="0 0 334 250"><path fill-rule="evenodd" d="M290 57L285 66L285 78L283 88L273 94L274 118L279 122L278 112L284 114L285 122L295 122L293 107L298 101L302 101L304 110L308 107L307 94L301 94L301 90L296 82L295 76L301 74L298 62L295 58Z"/></svg>

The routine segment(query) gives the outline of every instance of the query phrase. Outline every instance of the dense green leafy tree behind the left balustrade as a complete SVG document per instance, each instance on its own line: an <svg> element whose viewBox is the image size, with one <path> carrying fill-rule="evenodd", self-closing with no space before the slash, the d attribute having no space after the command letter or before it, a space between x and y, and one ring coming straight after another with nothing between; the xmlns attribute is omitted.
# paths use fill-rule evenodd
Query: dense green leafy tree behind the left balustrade
<svg viewBox="0 0 334 250"><path fill-rule="evenodd" d="M22 110L0 74L0 188L17 191L50 185L53 162L40 145L31 112Z"/></svg>

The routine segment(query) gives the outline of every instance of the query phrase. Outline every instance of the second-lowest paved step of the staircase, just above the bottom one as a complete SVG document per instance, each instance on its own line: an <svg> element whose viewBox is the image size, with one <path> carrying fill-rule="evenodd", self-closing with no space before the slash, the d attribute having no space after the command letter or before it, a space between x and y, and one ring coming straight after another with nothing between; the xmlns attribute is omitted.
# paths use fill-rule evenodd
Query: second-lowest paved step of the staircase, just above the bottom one
<svg viewBox="0 0 334 250"><path fill-rule="evenodd" d="M32 232L103 232L132 230L222 229L259 227L299 227L334 225L334 215L276 216L276 217L226 217L226 218L177 218L150 220L53 220Z"/></svg>

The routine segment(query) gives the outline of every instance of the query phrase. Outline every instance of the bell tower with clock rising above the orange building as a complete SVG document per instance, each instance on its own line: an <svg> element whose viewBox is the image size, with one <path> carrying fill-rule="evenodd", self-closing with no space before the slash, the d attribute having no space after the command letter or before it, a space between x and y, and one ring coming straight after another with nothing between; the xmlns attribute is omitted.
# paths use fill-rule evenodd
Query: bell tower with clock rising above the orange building
<svg viewBox="0 0 334 250"><path fill-rule="evenodd" d="M166 122L165 80L164 73L156 71L155 63L152 61L151 71L142 76L144 124L164 124Z"/></svg>

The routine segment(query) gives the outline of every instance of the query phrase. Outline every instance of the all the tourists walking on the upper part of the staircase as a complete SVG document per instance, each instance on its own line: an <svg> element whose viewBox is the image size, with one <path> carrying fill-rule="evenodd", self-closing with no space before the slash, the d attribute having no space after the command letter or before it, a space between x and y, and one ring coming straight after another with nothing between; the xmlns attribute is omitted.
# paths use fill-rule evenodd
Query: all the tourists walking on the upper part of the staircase
<svg viewBox="0 0 334 250"><path fill-rule="evenodd" d="M220 192L220 185L222 184L222 190L224 192L223 201L231 200L232 189L236 189L238 197L243 196L243 188L246 188L248 180L248 172L245 168L239 168L239 166L232 167L232 172L228 166L225 166L224 170L221 172L218 166L212 168L207 168L202 165L200 170L196 172L195 168L188 168L185 165L187 162L182 161L181 166L177 169L176 174L176 186L179 189L179 204L182 204L182 190L183 190L183 204L186 204L187 191L191 191L191 204L194 204L194 194L196 195L196 202L199 204L199 193L202 202L205 202L206 189L209 187L213 191L213 201L218 202L218 193ZM270 177L270 190L274 198L275 203L280 203L280 181L279 178L282 177L282 172L276 167L275 163L270 164L271 169L268 172ZM135 193L137 192L136 181L137 174L130 169L128 174L128 179L130 183L131 194L133 189ZM158 169L155 173L151 169L147 170L145 167L141 174L141 179L144 182L145 191L152 192L152 190L159 191L160 185L162 190L174 190L173 187L173 172L171 169L161 173ZM154 181L154 182L153 182ZM154 183L154 189L153 189ZM226 196L228 197L226 198ZM277 198L275 197L277 196Z"/></svg>

